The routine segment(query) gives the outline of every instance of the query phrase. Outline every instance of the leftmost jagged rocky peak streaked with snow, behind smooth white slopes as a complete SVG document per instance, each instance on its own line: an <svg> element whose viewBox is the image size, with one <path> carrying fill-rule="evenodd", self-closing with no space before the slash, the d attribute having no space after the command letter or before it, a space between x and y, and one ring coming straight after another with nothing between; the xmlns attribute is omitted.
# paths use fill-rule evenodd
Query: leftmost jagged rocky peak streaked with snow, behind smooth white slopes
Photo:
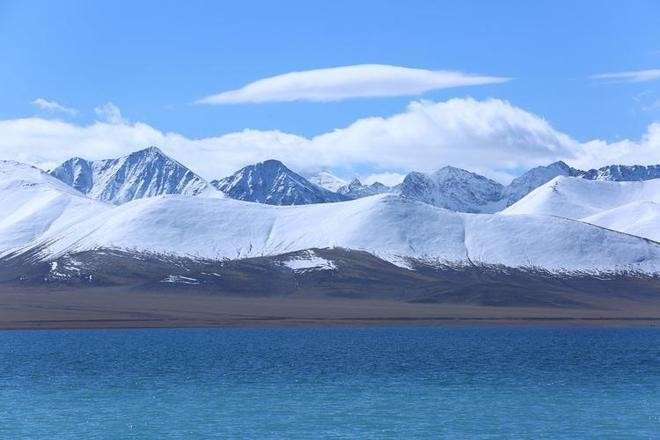
<svg viewBox="0 0 660 440"><path fill-rule="evenodd" d="M216 192L200 176L156 147L117 159L90 161L74 157L50 174L91 198L113 204L162 194L194 196Z"/></svg>

